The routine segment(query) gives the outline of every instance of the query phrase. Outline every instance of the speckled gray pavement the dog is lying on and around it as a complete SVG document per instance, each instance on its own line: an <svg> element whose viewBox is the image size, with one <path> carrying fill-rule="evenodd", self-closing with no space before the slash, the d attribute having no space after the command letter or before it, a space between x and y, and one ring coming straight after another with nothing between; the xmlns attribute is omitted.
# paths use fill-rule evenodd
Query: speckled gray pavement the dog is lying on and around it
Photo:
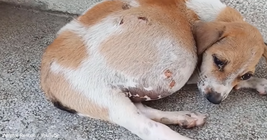
<svg viewBox="0 0 267 140"><path fill-rule="evenodd" d="M257 26L267 39L267 1L226 2ZM39 87L43 50L55 33L72 17L0 5L0 139L140 140L122 127L71 115L53 107ZM264 59L256 75L267 78ZM267 96L254 90L233 90L220 105L209 103L195 86L164 99L149 102L161 110L195 110L208 114L204 126L181 129L182 135L199 140L266 140ZM39 134L35 138L3 138L3 134ZM41 134L59 137L41 137Z"/></svg>

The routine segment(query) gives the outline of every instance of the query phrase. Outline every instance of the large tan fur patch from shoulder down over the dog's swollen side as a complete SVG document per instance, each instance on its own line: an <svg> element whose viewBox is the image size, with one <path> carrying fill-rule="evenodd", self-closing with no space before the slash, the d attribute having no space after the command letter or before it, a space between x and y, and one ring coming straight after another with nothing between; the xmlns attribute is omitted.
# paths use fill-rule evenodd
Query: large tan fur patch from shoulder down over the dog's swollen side
<svg viewBox="0 0 267 140"><path fill-rule="evenodd" d="M196 53L191 21L198 18L186 9L184 1L140 0L139 3L140 7L116 15L123 18L119 26L127 32L113 35L101 44L100 52L109 66L131 76L150 69L160 57L153 45L155 34L177 38L186 50Z"/></svg>

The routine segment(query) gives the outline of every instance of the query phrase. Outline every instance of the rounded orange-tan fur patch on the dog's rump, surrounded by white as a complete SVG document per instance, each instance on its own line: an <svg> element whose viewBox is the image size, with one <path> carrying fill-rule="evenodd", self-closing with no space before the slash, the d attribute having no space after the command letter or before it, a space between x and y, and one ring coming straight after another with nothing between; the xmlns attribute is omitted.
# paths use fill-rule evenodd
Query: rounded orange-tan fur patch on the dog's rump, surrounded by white
<svg viewBox="0 0 267 140"><path fill-rule="evenodd" d="M75 33L65 31L45 50L46 57L65 68L77 69L82 60L88 57L83 40Z"/></svg>

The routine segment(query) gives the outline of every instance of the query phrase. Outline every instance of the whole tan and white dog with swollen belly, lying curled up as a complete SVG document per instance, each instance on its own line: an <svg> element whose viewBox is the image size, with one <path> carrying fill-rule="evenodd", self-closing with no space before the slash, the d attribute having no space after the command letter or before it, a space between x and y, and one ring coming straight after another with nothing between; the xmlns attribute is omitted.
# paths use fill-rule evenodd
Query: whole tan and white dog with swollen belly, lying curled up
<svg viewBox="0 0 267 140"><path fill-rule="evenodd" d="M42 58L41 87L58 108L144 140L189 140L166 124L200 126L205 115L141 102L192 80L214 104L233 87L265 94L267 80L252 77L261 56L267 57L261 33L219 0L109 0L59 31Z"/></svg>

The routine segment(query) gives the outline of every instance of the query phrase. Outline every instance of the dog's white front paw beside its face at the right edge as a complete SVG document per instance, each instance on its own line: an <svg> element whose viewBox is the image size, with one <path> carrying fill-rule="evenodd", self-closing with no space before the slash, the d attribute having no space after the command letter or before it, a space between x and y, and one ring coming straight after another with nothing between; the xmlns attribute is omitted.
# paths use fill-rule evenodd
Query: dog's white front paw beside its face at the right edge
<svg viewBox="0 0 267 140"><path fill-rule="evenodd" d="M249 80L241 81L235 86L235 89L239 88L252 88L259 92L260 95L267 94L267 79L251 77Z"/></svg>

